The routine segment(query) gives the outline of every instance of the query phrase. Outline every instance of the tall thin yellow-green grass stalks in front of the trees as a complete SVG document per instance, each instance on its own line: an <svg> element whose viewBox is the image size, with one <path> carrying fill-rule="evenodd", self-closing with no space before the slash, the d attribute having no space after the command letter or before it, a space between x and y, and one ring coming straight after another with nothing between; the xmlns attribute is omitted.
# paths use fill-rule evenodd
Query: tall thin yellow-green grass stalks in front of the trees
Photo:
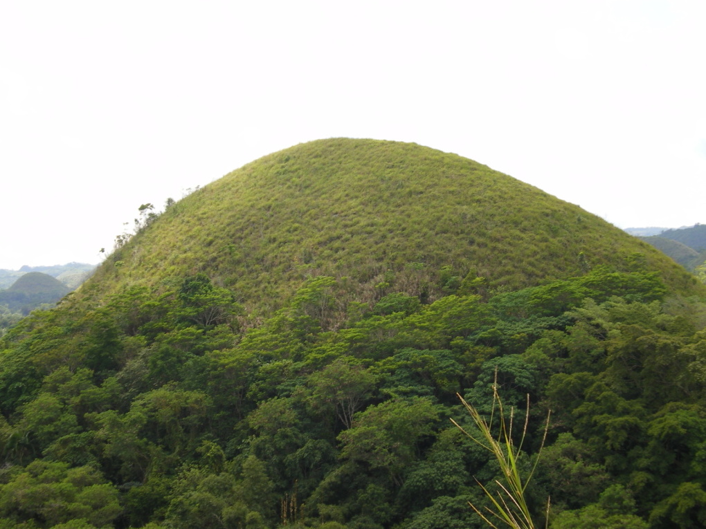
<svg viewBox="0 0 706 529"><path fill-rule="evenodd" d="M458 394L457 394L458 395ZM469 505L472 507L478 516L483 518L483 520L490 525L492 528L497 529L497 525L493 523L493 518L497 521L507 525L510 528L517 529L534 529L536 525L532 521L532 516L530 514L530 509L527 507L527 501L525 499L525 489L527 484L532 479L534 475L534 470L537 468L537 463L539 463L539 454L542 453L544 448L544 441L546 440L546 432L549 429L549 414L546 417L546 425L544 427L544 436L542 437L542 444L539 447L539 453L537 458L534 460L534 465L530 474L526 478L522 479L520 475L520 469L518 467L518 461L522 456L522 443L525 441L525 434L527 434L527 422L530 418L530 396L527 395L527 411L525 413L525 425L522 428L522 438L520 439L519 446L515 447L512 438L513 432L513 417L514 408L510 409L510 424L505 422L505 415L503 413L503 402L498 395L497 384L493 384L493 406L491 408L490 420L486 419L479 413L477 408L474 408L471 404L467 403L462 396L458 395L463 406L466 407L468 413L470 413L473 422L478 427L481 432L481 437L474 437L464 430L455 420L451 419L451 422L456 425L463 433L470 437L474 442L477 442L484 449L488 450L495 456L496 460L500 464L501 471L505 478L506 485L502 482L496 480L498 485L498 490L493 494L478 480L478 485L486 493L493 504L493 508L486 507L486 514L490 515L490 518L486 514L482 513L474 504L470 501ZM496 412L496 407L499 415L499 430L498 436L495 437L492 432L493 427L493 416ZM546 521L549 522L549 499L546 502ZM546 527L546 525L545 525Z"/></svg>

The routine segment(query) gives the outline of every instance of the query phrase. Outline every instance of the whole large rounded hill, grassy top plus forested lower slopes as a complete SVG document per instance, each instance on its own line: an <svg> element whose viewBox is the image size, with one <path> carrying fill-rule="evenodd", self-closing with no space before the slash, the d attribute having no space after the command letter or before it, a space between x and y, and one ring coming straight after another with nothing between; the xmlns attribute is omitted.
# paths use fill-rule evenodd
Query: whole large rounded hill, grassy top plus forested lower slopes
<svg viewBox="0 0 706 529"><path fill-rule="evenodd" d="M0 528L481 528L494 389L537 526L706 524L705 288L578 207L324 140L136 231L0 339Z"/></svg>

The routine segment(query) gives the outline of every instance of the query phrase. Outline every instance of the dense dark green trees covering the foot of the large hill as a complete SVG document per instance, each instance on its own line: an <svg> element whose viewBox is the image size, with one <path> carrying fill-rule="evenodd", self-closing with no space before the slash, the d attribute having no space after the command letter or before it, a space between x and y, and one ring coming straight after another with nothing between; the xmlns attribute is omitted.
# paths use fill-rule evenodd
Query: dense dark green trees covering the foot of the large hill
<svg viewBox="0 0 706 529"><path fill-rule="evenodd" d="M257 326L208 276L173 284L6 336L4 461L100 469L133 525L472 527L473 476L498 468L443 417L464 420L457 391L490 413L498 384L508 413L537 403L530 454L555 408L538 516L545 493L558 527L702 516L706 340L651 272L594 267L488 303L389 293L347 325L327 276ZM611 485L628 492L609 501Z"/></svg>

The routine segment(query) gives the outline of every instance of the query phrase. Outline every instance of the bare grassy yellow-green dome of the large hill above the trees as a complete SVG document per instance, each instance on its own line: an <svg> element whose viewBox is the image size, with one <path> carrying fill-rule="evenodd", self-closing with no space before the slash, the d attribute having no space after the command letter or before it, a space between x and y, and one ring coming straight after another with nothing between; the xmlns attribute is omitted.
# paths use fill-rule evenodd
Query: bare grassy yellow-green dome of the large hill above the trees
<svg viewBox="0 0 706 529"><path fill-rule="evenodd" d="M307 276L348 276L364 300L442 293L443 276L521 288L635 254L677 291L693 278L650 245L487 166L416 144L345 138L275 152L169 207L85 290L206 272L273 309ZM419 286L419 285L422 286Z"/></svg>

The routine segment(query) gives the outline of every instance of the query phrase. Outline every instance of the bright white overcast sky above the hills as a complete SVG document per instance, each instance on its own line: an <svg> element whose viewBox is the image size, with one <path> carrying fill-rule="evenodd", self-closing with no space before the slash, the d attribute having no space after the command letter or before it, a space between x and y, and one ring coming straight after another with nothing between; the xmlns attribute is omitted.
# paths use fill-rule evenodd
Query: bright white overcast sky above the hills
<svg viewBox="0 0 706 529"><path fill-rule="evenodd" d="M617 226L706 222L706 1L0 3L0 268L347 136L455 152Z"/></svg>

